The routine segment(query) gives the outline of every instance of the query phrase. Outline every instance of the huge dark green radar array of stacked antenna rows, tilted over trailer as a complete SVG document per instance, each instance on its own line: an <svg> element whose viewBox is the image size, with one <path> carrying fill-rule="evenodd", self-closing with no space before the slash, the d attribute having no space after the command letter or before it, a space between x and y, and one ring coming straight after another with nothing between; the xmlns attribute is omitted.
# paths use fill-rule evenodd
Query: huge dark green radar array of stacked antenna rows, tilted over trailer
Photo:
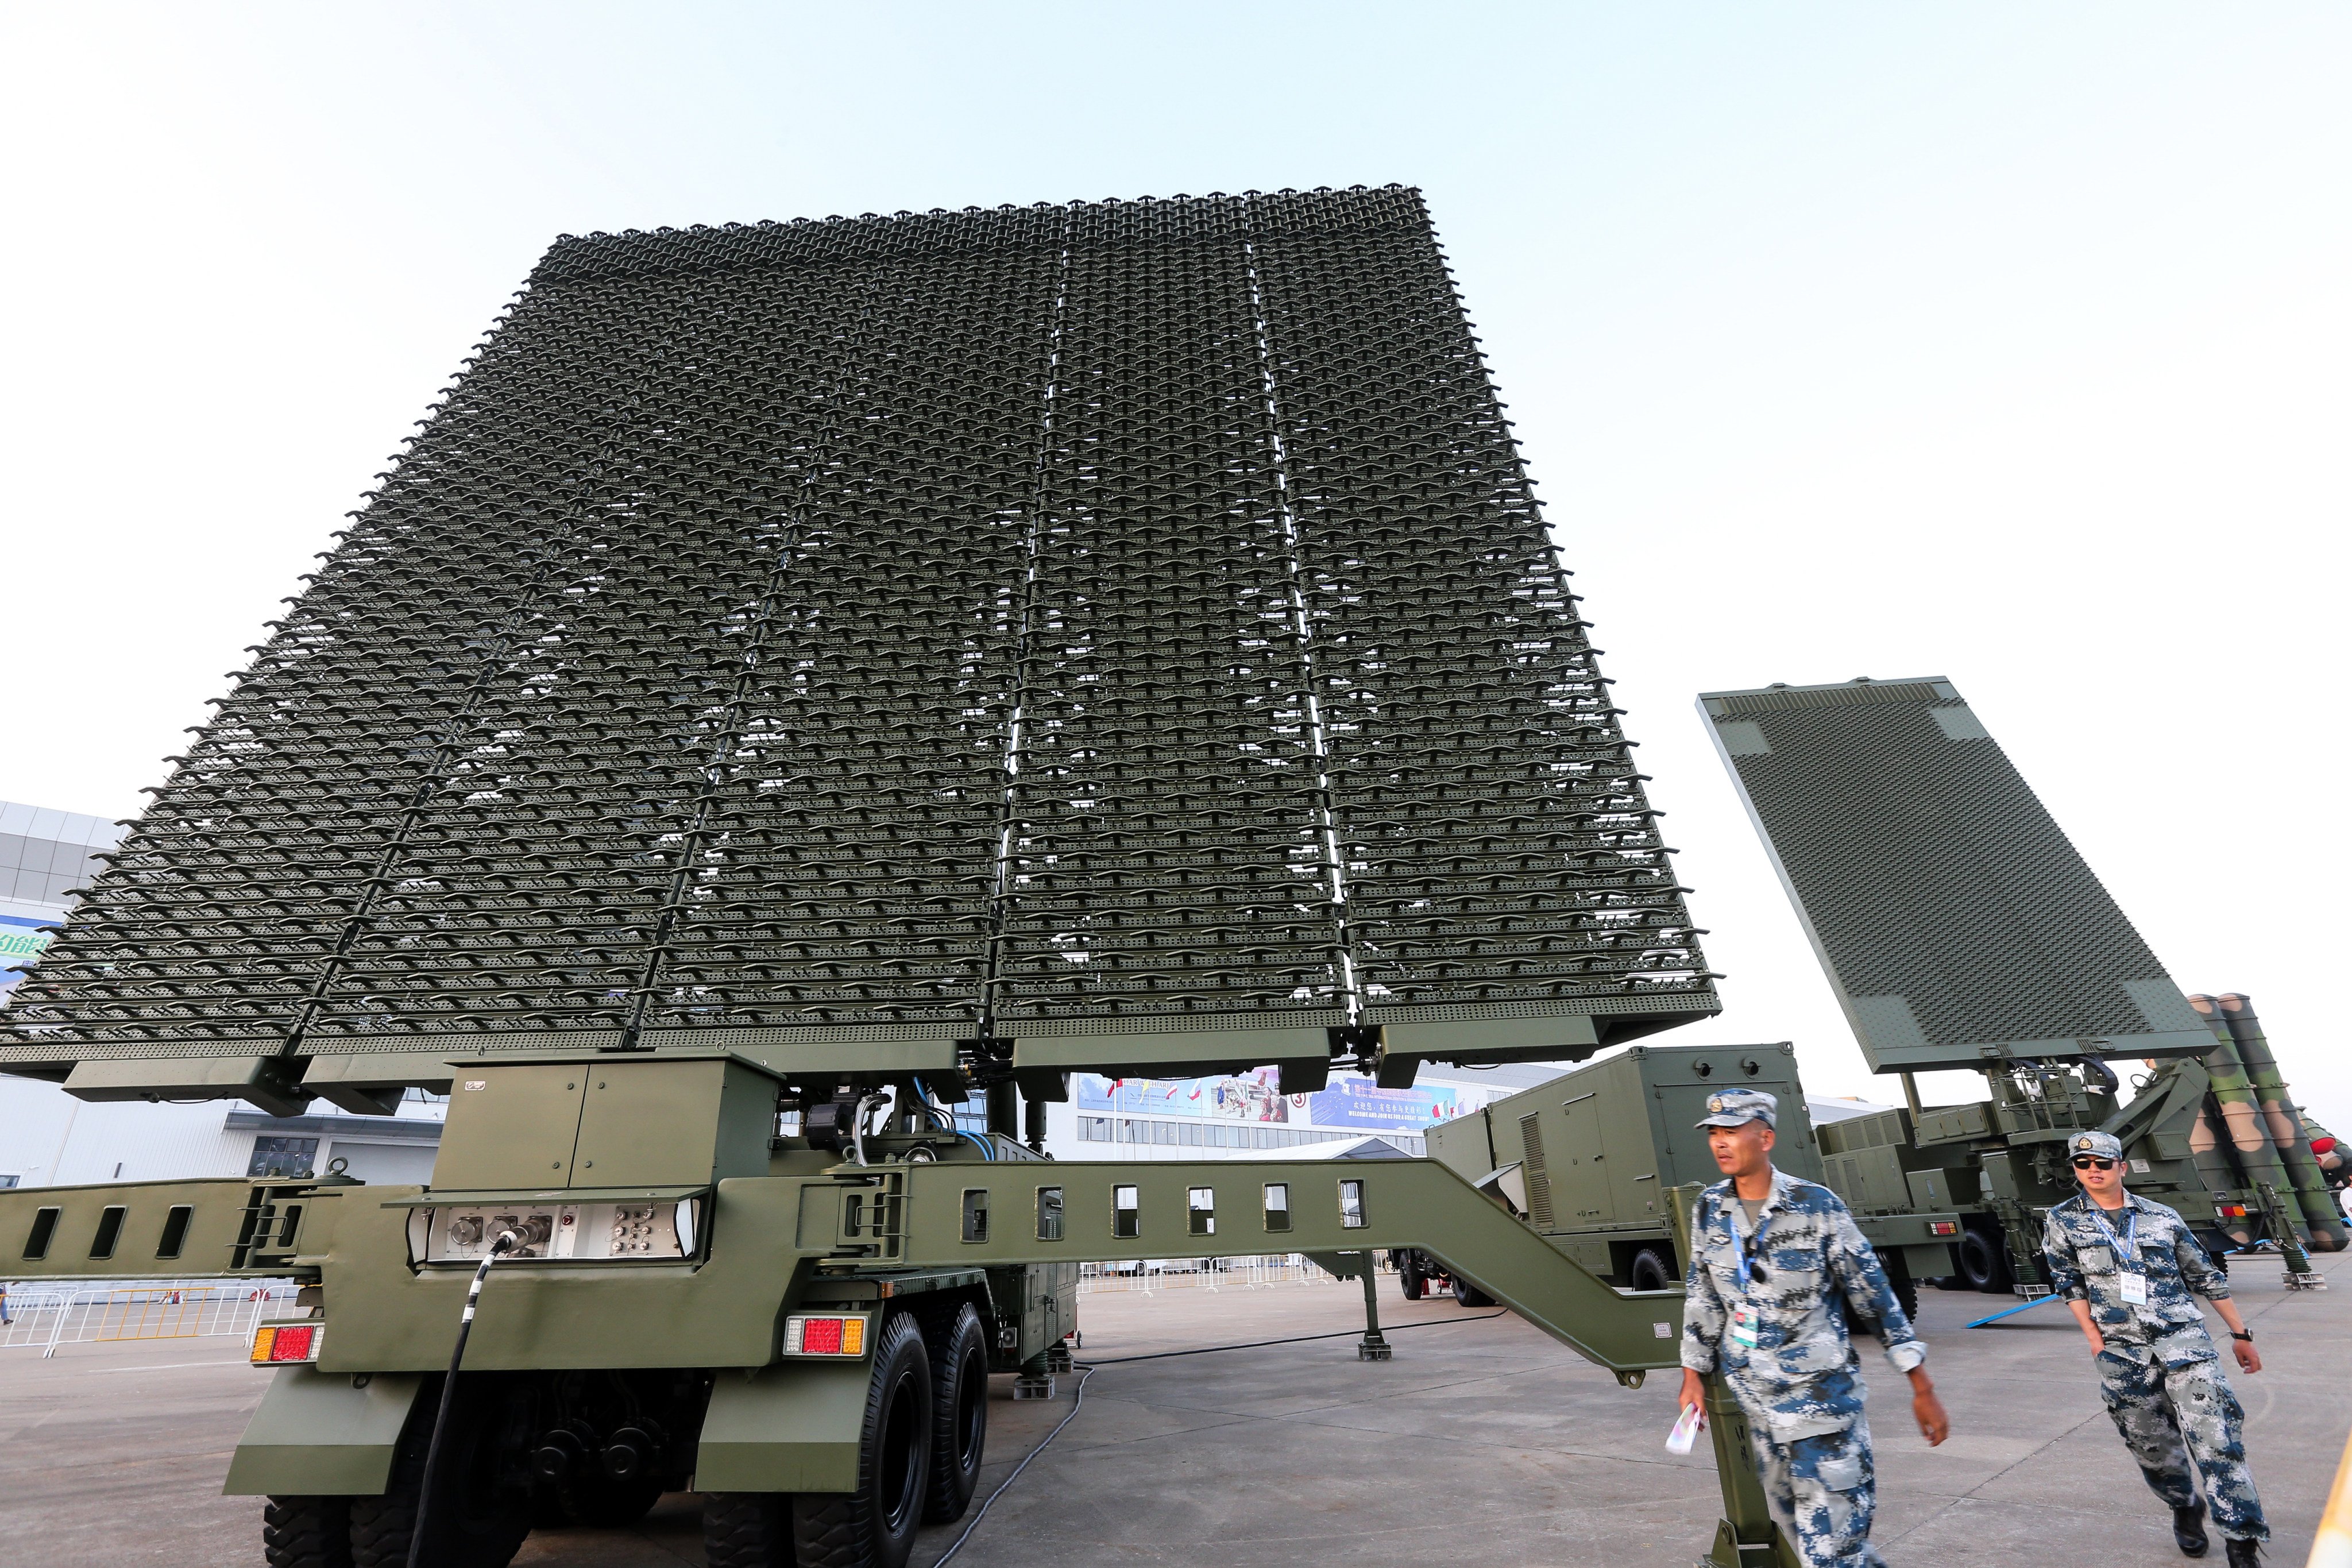
<svg viewBox="0 0 2352 1568"><path fill-rule="evenodd" d="M1051 1093L1717 1011L1409 188L562 237L174 762L0 1067Z"/></svg>

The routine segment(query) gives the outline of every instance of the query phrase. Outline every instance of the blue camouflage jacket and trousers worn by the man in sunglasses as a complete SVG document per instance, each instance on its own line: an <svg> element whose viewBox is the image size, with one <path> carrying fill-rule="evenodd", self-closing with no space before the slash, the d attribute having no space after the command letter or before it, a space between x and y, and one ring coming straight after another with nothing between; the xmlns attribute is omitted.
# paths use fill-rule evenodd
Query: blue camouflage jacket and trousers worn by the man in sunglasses
<svg viewBox="0 0 2352 1568"><path fill-rule="evenodd" d="M2051 1291L2091 1302L2107 1349L2098 1354L2098 1396L2166 1507L2197 1507L2190 1462L2204 1476L2206 1507L2223 1535L2270 1540L2263 1500L2246 1472L2246 1410L2220 1371L2197 1295L2223 1300L2230 1286L2204 1246L2164 1204L2124 1194L2107 1215L2077 1192L2042 1222ZM2147 1305L2126 1305L2117 1284L2117 1241L2131 1241ZM2129 1262L2129 1260L2126 1260Z"/></svg>

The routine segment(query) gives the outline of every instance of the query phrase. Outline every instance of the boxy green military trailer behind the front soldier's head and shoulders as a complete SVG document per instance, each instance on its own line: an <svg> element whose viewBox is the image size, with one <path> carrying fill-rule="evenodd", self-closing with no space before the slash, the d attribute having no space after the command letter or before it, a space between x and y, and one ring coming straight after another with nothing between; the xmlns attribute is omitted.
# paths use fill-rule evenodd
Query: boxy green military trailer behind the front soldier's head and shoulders
<svg viewBox="0 0 2352 1568"><path fill-rule="evenodd" d="M1828 1135L1844 1124L1813 1126L1788 1041L1628 1046L1475 1117L1428 1128L1430 1154L1496 1194L1588 1272L1635 1291L1663 1291L1682 1281L1665 1190L1722 1180L1698 1119L1708 1114L1708 1095L1724 1088L1762 1088L1778 1098L1773 1166L1846 1199L1903 1307L1917 1309L1915 1281L1952 1269L1959 1215L1936 1201L1933 1190L1915 1197L1900 1182L1884 1185L1875 1166L1863 1171L1856 1161L1825 1159ZM1454 1284L1456 1295L1482 1284L1418 1255L1399 1258L1397 1267L1409 1298L1437 1276Z"/></svg>

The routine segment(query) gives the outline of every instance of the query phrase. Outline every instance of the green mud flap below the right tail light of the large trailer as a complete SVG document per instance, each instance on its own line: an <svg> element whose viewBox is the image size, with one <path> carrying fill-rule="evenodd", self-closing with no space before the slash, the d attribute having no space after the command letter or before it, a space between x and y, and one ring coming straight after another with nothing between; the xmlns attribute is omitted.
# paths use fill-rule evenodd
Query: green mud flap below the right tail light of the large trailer
<svg viewBox="0 0 2352 1568"><path fill-rule="evenodd" d="M854 1493L873 1361L731 1368L710 1387L699 1493Z"/></svg>

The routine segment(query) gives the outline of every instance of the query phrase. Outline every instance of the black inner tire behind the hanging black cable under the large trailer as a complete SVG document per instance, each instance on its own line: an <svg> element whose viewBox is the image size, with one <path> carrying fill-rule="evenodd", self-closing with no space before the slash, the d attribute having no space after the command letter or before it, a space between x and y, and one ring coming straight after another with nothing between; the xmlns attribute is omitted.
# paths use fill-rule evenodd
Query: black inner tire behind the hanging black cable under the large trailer
<svg viewBox="0 0 2352 1568"><path fill-rule="evenodd" d="M440 1378L428 1378L393 1450L390 1486L381 1497L350 1500L350 1568L407 1568L437 1406ZM496 1486L496 1441L499 1403L468 1375L449 1408L447 1481L423 1552L433 1568L506 1568L532 1533L532 1493Z"/></svg>

